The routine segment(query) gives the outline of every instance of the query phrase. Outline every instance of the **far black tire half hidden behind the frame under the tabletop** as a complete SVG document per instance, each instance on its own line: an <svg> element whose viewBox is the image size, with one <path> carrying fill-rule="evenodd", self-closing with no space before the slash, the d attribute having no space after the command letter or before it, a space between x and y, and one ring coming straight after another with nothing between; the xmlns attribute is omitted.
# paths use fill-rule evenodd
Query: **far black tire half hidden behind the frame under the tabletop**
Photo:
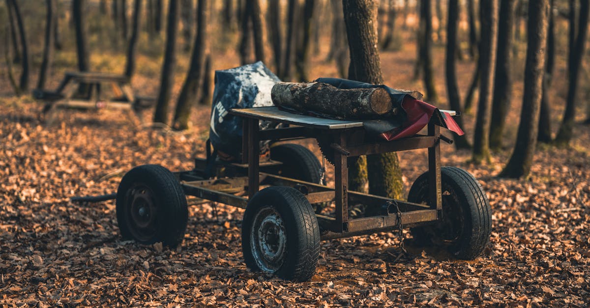
<svg viewBox="0 0 590 308"><path fill-rule="evenodd" d="M283 143L273 146L270 148L270 159L283 163L273 170L277 175L315 184L322 179L322 164L312 151L302 145Z"/></svg>

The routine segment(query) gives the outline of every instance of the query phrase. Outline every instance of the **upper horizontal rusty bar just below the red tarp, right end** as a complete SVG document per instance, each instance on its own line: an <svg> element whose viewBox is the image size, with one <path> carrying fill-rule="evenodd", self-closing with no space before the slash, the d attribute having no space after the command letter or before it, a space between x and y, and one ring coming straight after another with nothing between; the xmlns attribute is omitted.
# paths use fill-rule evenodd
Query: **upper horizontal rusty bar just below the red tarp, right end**
<svg viewBox="0 0 590 308"><path fill-rule="evenodd" d="M432 136L409 137L388 142L363 143L360 145L349 145L350 156L371 155L387 152L399 152L405 150L425 149L434 146L435 140Z"/></svg>

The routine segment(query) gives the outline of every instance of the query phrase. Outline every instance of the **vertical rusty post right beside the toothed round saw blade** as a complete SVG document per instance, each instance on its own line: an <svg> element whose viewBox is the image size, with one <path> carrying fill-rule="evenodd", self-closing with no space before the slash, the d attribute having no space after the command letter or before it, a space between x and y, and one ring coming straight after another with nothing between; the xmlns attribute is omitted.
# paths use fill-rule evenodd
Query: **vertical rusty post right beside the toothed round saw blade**
<svg viewBox="0 0 590 308"><path fill-rule="evenodd" d="M346 147L345 132L335 134L335 143ZM334 151L337 232L348 231L348 157Z"/></svg>

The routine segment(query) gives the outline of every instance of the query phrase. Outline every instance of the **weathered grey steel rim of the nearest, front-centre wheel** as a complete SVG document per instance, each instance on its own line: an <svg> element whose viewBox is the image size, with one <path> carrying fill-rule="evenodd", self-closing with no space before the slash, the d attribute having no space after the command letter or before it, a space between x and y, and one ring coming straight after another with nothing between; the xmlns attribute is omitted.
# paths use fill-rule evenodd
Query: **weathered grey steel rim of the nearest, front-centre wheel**
<svg viewBox="0 0 590 308"><path fill-rule="evenodd" d="M276 209L264 207L254 216L250 231L250 248L257 266L266 273L275 273L287 255L287 232Z"/></svg>

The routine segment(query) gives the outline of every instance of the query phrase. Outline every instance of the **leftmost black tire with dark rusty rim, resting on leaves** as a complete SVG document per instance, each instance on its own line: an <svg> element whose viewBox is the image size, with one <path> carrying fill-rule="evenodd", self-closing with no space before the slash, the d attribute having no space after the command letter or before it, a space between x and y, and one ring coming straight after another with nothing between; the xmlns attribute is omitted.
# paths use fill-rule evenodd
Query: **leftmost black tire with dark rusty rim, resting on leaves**
<svg viewBox="0 0 590 308"><path fill-rule="evenodd" d="M116 204L123 239L168 247L182 243L188 222L186 196L168 169L160 165L131 169L119 184Z"/></svg>

